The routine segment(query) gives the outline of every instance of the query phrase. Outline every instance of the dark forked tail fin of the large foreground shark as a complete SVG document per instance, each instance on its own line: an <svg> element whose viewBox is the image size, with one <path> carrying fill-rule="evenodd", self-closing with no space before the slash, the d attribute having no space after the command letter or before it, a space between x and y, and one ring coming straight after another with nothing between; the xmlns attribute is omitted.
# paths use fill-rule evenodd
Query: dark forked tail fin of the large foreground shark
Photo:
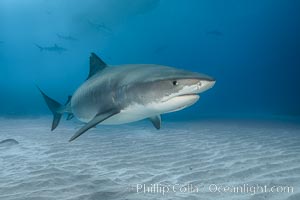
<svg viewBox="0 0 300 200"><path fill-rule="evenodd" d="M63 105L61 105L60 103L58 103L57 101L51 99L50 97L48 97L38 86L37 88L39 89L39 91L41 92L41 94L43 95L48 108L50 109L50 111L53 114L53 121L52 121L52 127L51 127L51 131L53 131L59 124L61 116L62 116L62 110L63 110Z"/></svg>

